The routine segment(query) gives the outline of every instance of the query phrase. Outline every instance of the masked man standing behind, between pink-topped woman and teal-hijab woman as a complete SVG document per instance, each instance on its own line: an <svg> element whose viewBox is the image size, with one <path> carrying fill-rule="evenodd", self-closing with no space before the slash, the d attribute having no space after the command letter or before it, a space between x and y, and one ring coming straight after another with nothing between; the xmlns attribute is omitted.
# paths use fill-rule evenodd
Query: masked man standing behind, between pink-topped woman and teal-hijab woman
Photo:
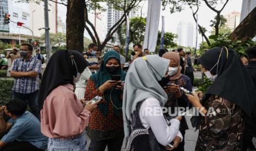
<svg viewBox="0 0 256 151"><path fill-rule="evenodd" d="M89 44L86 55L88 56L87 61L89 62L89 69L91 73L95 73L98 69L100 69L99 60L97 54L100 51L97 49L97 45L94 43Z"/></svg>

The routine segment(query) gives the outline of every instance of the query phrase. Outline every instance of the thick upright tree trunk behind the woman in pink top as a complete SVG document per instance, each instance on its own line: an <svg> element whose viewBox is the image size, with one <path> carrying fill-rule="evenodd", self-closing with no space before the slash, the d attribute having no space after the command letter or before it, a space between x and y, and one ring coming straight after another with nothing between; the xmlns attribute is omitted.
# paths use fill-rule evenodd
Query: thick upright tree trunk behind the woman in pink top
<svg viewBox="0 0 256 151"><path fill-rule="evenodd" d="M67 4L67 49L84 51L85 1L69 0Z"/></svg>

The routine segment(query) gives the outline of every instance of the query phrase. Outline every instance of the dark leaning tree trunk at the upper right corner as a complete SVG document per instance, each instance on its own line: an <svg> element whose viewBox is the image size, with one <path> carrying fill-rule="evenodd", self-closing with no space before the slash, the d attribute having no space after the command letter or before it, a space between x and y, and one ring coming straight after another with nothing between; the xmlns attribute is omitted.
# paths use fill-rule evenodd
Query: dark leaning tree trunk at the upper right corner
<svg viewBox="0 0 256 151"><path fill-rule="evenodd" d="M247 41L248 38L256 36L256 7L231 33L231 40Z"/></svg>

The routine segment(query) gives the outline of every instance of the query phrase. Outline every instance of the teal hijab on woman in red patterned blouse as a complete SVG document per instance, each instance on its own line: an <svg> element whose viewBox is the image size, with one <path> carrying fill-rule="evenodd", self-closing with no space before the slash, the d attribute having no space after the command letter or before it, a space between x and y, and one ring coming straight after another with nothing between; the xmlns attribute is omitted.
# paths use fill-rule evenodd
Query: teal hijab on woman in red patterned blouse
<svg viewBox="0 0 256 151"><path fill-rule="evenodd" d="M91 79L95 83L96 89L99 88L105 82L107 82L107 80L111 79L112 74L109 73L106 69L107 61L110 59L116 59L119 62L119 69L113 75L121 75L121 81L126 79L126 72L122 71L121 64L120 64L120 54L117 53L116 51L108 51L103 57L103 62L100 66L99 71L91 75ZM104 114L105 116L108 113L108 105L111 103L111 98L112 98L113 104L115 104L117 108L122 108L122 100L120 98L122 91L116 90L115 88L112 88L112 89L113 89L112 96L110 96L111 89L108 89L104 92L106 103L98 104L98 108L100 109L101 113ZM115 107L113 108L114 108L115 116L116 117L120 116L121 109L117 109Z"/></svg>

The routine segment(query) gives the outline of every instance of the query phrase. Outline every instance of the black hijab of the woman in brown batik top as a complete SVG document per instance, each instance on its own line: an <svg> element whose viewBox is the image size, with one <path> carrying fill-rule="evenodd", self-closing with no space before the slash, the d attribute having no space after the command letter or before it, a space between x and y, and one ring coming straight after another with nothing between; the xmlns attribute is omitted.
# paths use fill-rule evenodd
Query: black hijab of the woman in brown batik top
<svg viewBox="0 0 256 151"><path fill-rule="evenodd" d="M216 65L216 63L219 63ZM251 115L255 103L256 90L252 78L246 71L243 63L238 59L236 52L225 47L215 47L204 53L199 63L211 74L216 75L215 82L206 91L207 100L209 95L218 95L235 103L247 114Z"/></svg>

